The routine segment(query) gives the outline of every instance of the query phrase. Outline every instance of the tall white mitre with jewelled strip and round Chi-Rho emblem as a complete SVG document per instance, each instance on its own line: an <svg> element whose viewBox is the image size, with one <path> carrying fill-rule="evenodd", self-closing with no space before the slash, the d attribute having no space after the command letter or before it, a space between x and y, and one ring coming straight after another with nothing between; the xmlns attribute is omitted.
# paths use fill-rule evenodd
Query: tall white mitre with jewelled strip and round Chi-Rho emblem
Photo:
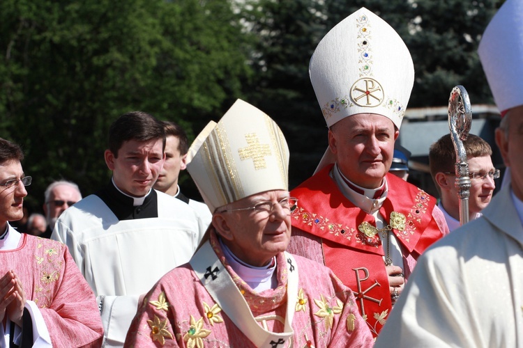
<svg viewBox="0 0 523 348"><path fill-rule="evenodd" d="M400 129L414 63L400 35L370 10L357 10L321 39L309 75L328 127L357 113L377 113ZM317 171L333 161L327 149Z"/></svg>

